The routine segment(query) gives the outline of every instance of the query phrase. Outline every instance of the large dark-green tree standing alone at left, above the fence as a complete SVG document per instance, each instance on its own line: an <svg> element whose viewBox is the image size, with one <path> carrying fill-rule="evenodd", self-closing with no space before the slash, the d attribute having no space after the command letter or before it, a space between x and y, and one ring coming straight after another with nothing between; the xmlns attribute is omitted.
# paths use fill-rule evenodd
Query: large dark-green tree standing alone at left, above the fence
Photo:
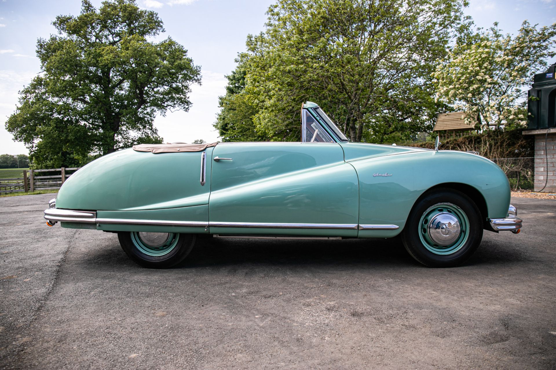
<svg viewBox="0 0 556 370"><path fill-rule="evenodd" d="M37 42L42 73L20 92L6 128L24 141L35 166L79 165L91 155L135 143L160 143L153 120L188 110L200 67L164 31L157 13L134 0L98 9L82 1L78 16L58 16L58 34Z"/></svg>

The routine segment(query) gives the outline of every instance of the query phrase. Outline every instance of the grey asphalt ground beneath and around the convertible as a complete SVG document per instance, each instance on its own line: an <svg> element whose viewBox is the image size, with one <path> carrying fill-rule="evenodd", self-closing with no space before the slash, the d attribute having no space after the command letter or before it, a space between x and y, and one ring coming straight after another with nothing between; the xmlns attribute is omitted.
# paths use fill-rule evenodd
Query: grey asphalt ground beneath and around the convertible
<svg viewBox="0 0 556 370"><path fill-rule="evenodd" d="M53 194L0 199L0 368L556 367L556 201L512 199L464 266L399 239L201 239L178 268L115 234L47 227Z"/></svg>

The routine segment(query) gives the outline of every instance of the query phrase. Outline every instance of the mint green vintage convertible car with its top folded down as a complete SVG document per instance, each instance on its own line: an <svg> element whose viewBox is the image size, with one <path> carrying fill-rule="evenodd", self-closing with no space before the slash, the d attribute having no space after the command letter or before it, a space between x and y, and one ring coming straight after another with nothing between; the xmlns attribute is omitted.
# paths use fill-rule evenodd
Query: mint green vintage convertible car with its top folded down
<svg viewBox="0 0 556 370"><path fill-rule="evenodd" d="M196 235L347 239L401 234L427 266L465 261L483 230L517 234L508 179L482 156L350 143L316 104L301 143L136 145L73 174L47 224L117 232L146 267L170 267Z"/></svg>

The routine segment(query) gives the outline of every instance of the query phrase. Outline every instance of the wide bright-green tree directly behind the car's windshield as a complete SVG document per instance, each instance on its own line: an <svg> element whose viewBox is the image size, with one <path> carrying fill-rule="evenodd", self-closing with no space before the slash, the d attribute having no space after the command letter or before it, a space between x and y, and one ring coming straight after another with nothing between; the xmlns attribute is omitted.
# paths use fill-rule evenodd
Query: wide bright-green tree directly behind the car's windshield
<svg viewBox="0 0 556 370"><path fill-rule="evenodd" d="M216 128L299 140L302 101L319 103L354 141L430 130L443 104L431 73L465 27L459 0L278 0L266 30L247 38L228 77ZM243 79L243 80L242 80ZM243 129L239 128L243 125Z"/></svg>

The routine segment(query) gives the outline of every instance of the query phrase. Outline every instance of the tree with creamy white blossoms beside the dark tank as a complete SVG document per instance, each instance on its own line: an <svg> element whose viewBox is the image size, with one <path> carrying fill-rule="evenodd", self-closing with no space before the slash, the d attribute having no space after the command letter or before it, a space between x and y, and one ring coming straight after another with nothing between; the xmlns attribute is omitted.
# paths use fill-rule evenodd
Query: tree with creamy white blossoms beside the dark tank
<svg viewBox="0 0 556 370"><path fill-rule="evenodd" d="M555 37L556 24L538 29L525 21L515 37L502 34L497 23L479 29L436 67L436 98L464 110L468 121L479 115L484 125L523 128L527 87L556 55Z"/></svg>

